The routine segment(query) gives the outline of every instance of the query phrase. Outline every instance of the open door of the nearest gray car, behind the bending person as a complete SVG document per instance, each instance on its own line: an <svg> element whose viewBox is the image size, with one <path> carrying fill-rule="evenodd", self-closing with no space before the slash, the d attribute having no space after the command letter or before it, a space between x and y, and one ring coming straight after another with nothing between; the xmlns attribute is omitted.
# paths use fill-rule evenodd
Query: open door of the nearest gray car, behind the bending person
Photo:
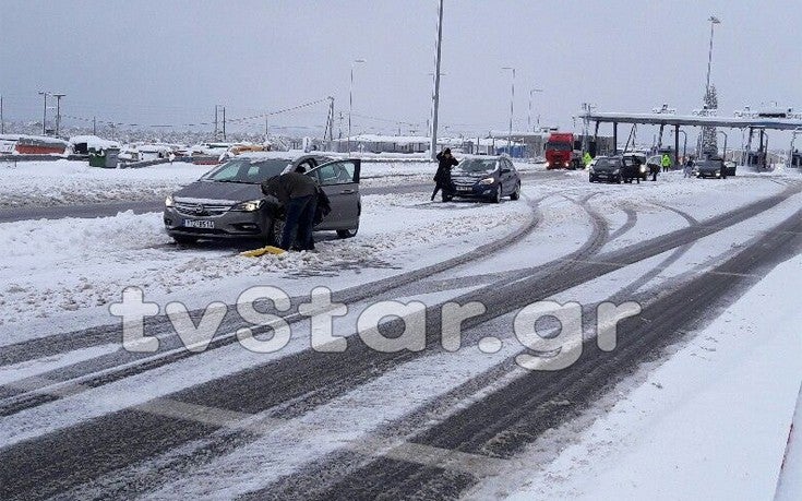
<svg viewBox="0 0 802 501"><path fill-rule="evenodd" d="M347 159L323 164L309 172L309 176L318 179L332 205L332 212L318 225L318 229L354 229L359 227L359 214L361 212L360 170L361 160Z"/></svg>

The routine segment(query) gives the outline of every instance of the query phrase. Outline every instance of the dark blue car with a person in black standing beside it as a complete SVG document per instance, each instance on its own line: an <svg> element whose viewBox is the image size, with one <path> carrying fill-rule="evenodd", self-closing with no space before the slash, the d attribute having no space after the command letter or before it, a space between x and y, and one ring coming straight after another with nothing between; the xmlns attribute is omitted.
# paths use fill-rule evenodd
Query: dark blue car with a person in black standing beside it
<svg viewBox="0 0 802 501"><path fill-rule="evenodd" d="M465 157L451 174L454 195L499 203L520 198L520 176L506 156Z"/></svg>

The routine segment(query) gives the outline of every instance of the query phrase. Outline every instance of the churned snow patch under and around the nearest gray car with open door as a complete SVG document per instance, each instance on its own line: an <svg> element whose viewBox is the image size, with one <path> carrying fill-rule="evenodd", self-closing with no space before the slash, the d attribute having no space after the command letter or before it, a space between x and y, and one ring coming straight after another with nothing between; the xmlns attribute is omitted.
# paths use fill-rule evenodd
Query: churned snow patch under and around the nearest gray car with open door
<svg viewBox="0 0 802 501"><path fill-rule="evenodd" d="M286 284L302 294L315 285L339 288L343 274L364 283L376 272L397 273L432 258L464 252L518 227L524 202L429 203L420 194L362 198L357 237L319 232L318 251L244 258L256 242L201 242L181 247L164 231L161 213L120 213L104 218L64 218L0 224L0 325L117 301L127 286L148 297L234 302L248 285ZM441 249L435 251L435 249ZM411 252L410 252L411 251ZM303 282L303 283L300 283ZM110 319L105 310L98 312Z"/></svg>

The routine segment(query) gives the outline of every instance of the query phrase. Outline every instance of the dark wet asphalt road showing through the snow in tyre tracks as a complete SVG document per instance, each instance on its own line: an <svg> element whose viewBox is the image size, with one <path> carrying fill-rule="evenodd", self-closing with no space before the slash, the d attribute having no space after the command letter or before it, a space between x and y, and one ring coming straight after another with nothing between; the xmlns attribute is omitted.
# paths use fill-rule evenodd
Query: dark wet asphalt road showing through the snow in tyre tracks
<svg viewBox="0 0 802 501"><path fill-rule="evenodd" d="M699 239L761 217L798 192L799 187L794 186L778 195L704 222L683 214L686 227L607 252L605 246L626 235L635 226L638 214L627 213L623 226L611 232L605 217L588 203L592 193L575 196L572 203L585 211L591 225L587 241L574 253L540 266L472 275L477 287L458 295L456 301L465 305L481 300L487 312L463 323L466 343L476 344L493 334L494 322L525 305L666 252L670 254L663 264L677 260ZM540 231L540 202L530 202L529 223L504 239L423 270L344 290L335 300L355 302L442 290L450 281L456 279L455 271L480 271L499 251L520 244L524 238ZM639 363L660 357L662 348L708 321L777 263L802 251L801 216L800 211L789 214L782 224L741 247L738 253L720 257L711 270L682 275L670 287L663 287L661 294L646 295L641 314L620 324L617 349L602 351L595 339L589 339L585 342L580 359L570 368L555 372L531 371L523 377L513 377L517 366L507 359L411 414L392 420L379 416L379 431L372 441L323 455L300 470L251 490L244 499L448 499L460 496L546 430L582 413ZM654 273L657 272L648 272L636 283ZM619 299L625 299L633 287L623 287L618 293ZM302 350L197 384L168 398L130 406L4 446L0 449L0 498L147 497L166 482L190 476L214 458L256 442L280 422L290 429L295 424L301 426L303 416L314 409L404 363L442 350L439 346L439 306L429 308L427 346L422 351L376 353L355 337L351 341L356 343L349 341L349 349L342 354ZM294 309L296 307L294 301ZM154 327L158 327L159 322L166 324L164 318L154 318L152 322ZM241 319L230 315L226 322L228 332L241 324ZM386 325L387 332L397 333L400 327L399 322ZM70 335L69 341L65 336L52 336L12 345L3 349L0 363L16 363L108 343L119 335L117 329L77 332ZM213 348L225 345L223 339ZM32 378L26 384L36 390L19 384L0 389L0 415L14 416L155 367L170 367L192 356L182 350L160 358L116 353L53 370L38 375L46 382L52 381L52 387L37 386ZM483 391L500 381L506 381L502 387ZM59 382L65 385L59 386ZM553 402L565 404L551 405ZM266 419L267 425L253 424L252 418L256 416ZM157 461L158 457L165 458ZM280 457L258 460L280 462Z"/></svg>

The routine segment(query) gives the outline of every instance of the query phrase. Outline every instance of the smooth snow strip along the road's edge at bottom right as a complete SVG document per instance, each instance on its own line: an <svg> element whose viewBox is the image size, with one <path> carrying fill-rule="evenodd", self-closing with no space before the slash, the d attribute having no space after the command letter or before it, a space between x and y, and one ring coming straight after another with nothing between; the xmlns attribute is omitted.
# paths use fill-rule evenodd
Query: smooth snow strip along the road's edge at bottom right
<svg viewBox="0 0 802 501"><path fill-rule="evenodd" d="M539 465L536 473L523 478L516 468L472 496L773 499L802 381L802 310L788 294L800 288L798 255L668 361L643 367L516 457L518 467ZM756 315L767 301L774 313ZM544 461L555 443L556 457Z"/></svg>

